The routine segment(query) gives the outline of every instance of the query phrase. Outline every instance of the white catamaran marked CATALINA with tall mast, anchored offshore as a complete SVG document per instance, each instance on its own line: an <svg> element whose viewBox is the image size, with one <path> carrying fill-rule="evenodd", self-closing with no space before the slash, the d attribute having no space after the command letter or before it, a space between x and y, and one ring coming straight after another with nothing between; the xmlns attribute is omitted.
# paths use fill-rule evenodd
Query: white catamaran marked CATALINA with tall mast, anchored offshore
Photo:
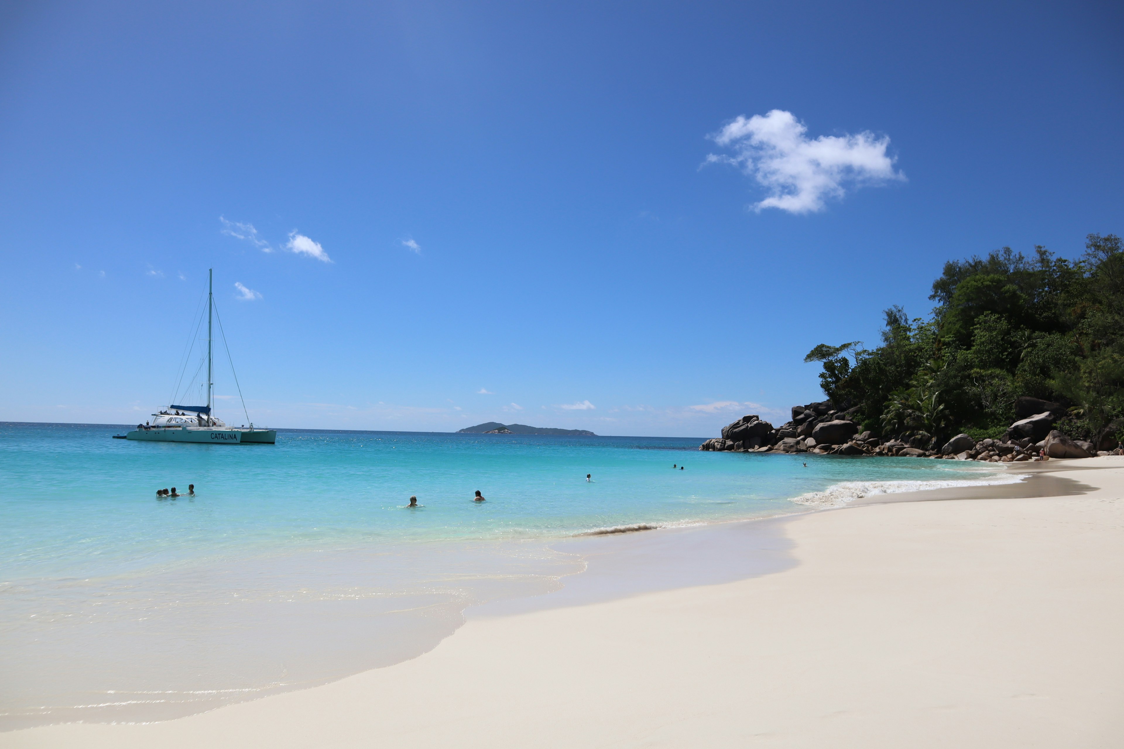
<svg viewBox="0 0 1124 749"><path fill-rule="evenodd" d="M214 270L208 271L207 281L207 405L169 405L163 411L152 414L152 421L137 424L137 428L125 437L157 442L210 442L220 445L248 445L277 441L275 429L248 427L227 427L221 419L211 413L215 400L214 382L214 344L212 314L215 311ZM226 337L224 336L224 340ZM235 375L237 380L237 375ZM241 395L242 389L238 389ZM245 403L243 403L245 408ZM250 421L247 415L246 421Z"/></svg>

